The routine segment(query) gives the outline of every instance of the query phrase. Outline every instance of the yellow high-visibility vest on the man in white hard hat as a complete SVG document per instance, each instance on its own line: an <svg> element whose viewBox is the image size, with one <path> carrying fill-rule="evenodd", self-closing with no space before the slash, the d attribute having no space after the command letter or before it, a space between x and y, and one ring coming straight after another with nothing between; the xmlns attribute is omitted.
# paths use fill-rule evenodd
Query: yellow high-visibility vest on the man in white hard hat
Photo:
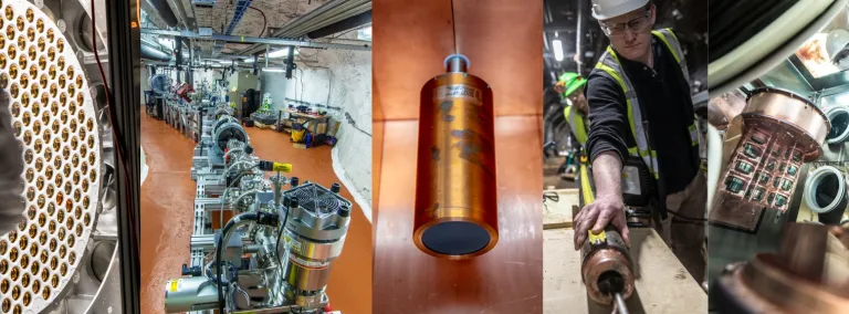
<svg viewBox="0 0 849 314"><path fill-rule="evenodd" d="M690 74L686 70L686 60L684 60L684 53L681 49L681 43L678 38L672 33L670 29L662 29L651 32L656 38L661 40L667 48L672 52L678 65L684 73L684 78L690 82ZM648 130L643 127L643 113L640 109L639 101L637 100L637 91L633 88L633 84L628 80L628 75L625 74L619 57L616 55L616 51L611 46L607 48L605 54L601 55L599 62L596 64L596 69L605 71L622 87L625 98L628 107L628 123L633 134L636 147L628 147L628 154L632 157L641 158L649 170L652 172L656 179L658 175L658 154L649 145ZM695 116L690 117L692 124L689 127L690 139L696 151L699 148L699 130L695 124Z"/></svg>

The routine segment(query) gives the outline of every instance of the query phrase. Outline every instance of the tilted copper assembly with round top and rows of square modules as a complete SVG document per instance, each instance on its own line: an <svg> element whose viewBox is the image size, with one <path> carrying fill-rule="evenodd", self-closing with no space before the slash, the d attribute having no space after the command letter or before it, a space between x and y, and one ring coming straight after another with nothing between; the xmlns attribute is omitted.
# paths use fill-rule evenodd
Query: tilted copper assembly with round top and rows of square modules
<svg viewBox="0 0 849 314"><path fill-rule="evenodd" d="M722 175L709 220L754 231L764 209L788 209L803 163L819 157L830 124L807 98L772 87L755 90L740 118L742 137Z"/></svg>

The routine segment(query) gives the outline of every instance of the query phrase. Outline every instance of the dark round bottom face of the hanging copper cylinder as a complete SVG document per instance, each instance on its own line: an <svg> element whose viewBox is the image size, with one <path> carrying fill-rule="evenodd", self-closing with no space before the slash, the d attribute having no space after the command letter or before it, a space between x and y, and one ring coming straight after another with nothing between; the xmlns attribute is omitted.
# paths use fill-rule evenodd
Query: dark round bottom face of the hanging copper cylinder
<svg viewBox="0 0 849 314"><path fill-rule="evenodd" d="M482 227L465 221L434 224L421 234L421 243L433 252L446 255L472 254L490 243L490 233Z"/></svg>

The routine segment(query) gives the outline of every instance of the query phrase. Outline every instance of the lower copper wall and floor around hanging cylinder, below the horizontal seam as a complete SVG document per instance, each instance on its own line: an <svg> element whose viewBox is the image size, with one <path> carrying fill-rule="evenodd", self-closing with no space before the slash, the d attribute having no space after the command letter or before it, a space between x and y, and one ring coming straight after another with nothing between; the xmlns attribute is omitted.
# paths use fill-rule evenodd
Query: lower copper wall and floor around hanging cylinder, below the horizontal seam
<svg viewBox="0 0 849 314"><path fill-rule="evenodd" d="M382 146L375 313L542 313L541 117L495 118L501 237L489 253L465 261L437 259L410 243L418 123L382 124L384 140L375 143Z"/></svg>

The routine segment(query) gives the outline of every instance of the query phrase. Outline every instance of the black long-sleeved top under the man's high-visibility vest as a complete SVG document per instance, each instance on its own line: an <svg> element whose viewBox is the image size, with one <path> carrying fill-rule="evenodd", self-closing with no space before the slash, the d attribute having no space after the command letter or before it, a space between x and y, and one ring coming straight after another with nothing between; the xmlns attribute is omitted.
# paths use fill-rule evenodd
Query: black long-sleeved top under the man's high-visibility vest
<svg viewBox="0 0 849 314"><path fill-rule="evenodd" d="M701 160L699 147L692 145L689 132L689 126L694 123L689 83L662 41L653 38L651 49L654 69L617 55L635 86L642 118L649 123L649 143L658 154L660 184L665 195L670 195L686 188L698 174ZM587 80L590 160L612 150L625 164L628 147L637 145L622 88L607 72L598 69L593 70Z"/></svg>

